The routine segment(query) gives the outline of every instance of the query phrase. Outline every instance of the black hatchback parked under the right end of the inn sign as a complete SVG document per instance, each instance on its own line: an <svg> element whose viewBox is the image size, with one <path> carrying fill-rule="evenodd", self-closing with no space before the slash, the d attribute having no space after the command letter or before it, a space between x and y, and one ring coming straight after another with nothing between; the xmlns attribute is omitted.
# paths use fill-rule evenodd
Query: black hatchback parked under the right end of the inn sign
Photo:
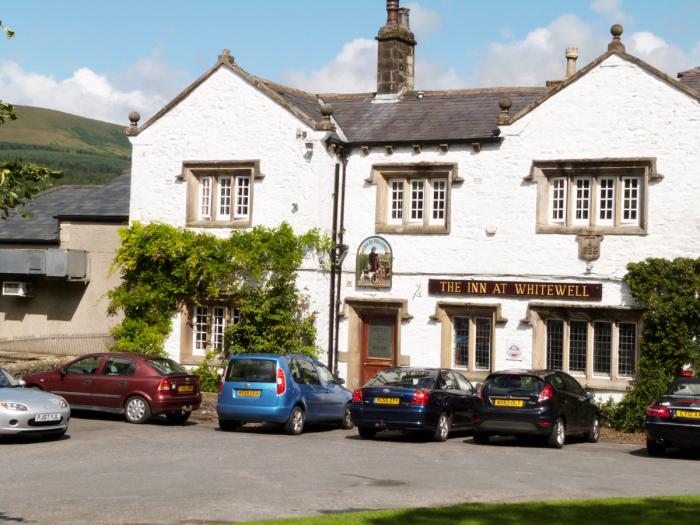
<svg viewBox="0 0 700 525"><path fill-rule="evenodd" d="M494 435L541 436L562 448L567 435L583 434L595 443L600 412L593 394L558 370L506 370L490 374L477 393L474 442Z"/></svg>

